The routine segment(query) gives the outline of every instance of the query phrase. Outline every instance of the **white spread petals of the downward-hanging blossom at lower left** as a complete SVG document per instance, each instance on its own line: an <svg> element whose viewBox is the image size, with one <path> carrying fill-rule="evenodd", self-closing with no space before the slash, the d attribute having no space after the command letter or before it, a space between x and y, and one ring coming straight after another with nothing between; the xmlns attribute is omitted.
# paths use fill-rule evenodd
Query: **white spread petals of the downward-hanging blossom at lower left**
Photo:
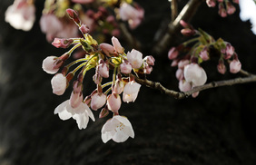
<svg viewBox="0 0 256 165"><path fill-rule="evenodd" d="M81 102L78 107L73 108L70 105L70 101L67 100L55 108L54 114L58 114L60 119L63 121L73 117L80 130L87 127L89 117L95 121L93 112L84 102Z"/></svg>

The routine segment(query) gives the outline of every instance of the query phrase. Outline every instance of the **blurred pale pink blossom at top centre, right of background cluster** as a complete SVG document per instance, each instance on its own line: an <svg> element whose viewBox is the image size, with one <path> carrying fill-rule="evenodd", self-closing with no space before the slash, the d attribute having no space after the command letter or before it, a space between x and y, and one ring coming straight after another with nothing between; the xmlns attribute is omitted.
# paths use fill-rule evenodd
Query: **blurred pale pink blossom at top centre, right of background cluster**
<svg viewBox="0 0 256 165"><path fill-rule="evenodd" d="M119 15L123 21L128 21L131 29L134 29L141 24L144 16L144 10L138 5L137 8L135 8L132 5L123 3L120 6Z"/></svg>

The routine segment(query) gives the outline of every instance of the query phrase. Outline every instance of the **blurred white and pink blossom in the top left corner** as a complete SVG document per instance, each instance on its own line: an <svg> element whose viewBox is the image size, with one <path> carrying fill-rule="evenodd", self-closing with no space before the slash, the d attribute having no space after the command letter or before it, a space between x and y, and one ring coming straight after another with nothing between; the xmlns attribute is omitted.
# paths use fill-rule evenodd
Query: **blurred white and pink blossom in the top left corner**
<svg viewBox="0 0 256 165"><path fill-rule="evenodd" d="M26 0L15 0L5 12L5 21L15 29L29 31L35 20L35 7Z"/></svg>

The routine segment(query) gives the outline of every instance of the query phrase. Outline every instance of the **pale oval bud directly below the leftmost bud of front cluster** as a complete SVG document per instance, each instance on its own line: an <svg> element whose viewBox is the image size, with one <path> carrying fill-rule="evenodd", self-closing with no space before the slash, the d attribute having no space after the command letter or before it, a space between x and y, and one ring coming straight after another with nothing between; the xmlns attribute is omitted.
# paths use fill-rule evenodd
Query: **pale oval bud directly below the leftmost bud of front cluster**
<svg viewBox="0 0 256 165"><path fill-rule="evenodd" d="M66 77L62 73L57 73L51 80L54 94L62 95L66 88Z"/></svg>

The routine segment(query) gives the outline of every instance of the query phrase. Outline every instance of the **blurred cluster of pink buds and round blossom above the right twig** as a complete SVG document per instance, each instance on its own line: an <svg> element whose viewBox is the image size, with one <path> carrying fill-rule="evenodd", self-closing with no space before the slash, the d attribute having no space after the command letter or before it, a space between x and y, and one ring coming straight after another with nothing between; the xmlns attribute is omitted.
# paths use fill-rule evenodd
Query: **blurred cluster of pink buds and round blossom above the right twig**
<svg viewBox="0 0 256 165"><path fill-rule="evenodd" d="M181 21L182 34L186 36L195 35L195 38L172 47L168 53L168 58L172 60L172 67L178 66L176 78L179 80L179 89L188 92L195 86L201 86L207 81L207 74L203 70L201 63L218 59L217 71L226 73L225 63L229 63L230 73L238 73L241 70L241 63L238 59L234 47L222 40L214 38L202 31L195 30L191 24ZM189 44L192 44L189 45ZM196 97L198 92L193 93Z"/></svg>

